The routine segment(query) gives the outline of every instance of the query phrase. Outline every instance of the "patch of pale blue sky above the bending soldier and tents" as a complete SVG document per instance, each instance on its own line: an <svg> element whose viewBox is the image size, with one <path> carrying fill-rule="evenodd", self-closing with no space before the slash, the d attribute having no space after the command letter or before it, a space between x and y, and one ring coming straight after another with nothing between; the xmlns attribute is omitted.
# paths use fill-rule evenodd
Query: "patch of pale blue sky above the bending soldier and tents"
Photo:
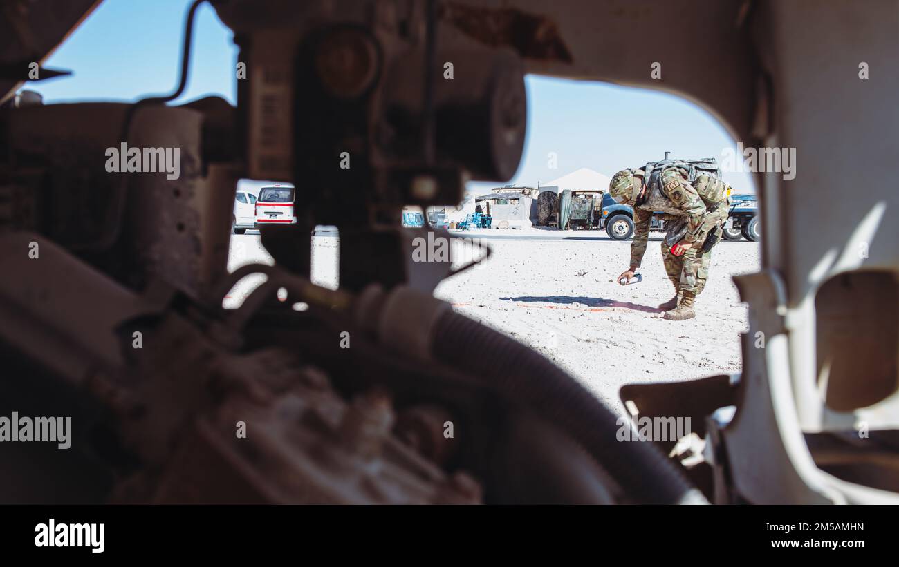
<svg viewBox="0 0 899 567"><path fill-rule="evenodd" d="M648 67L647 67L648 73ZM736 143L692 102L659 91L531 75L528 138L515 183L536 186L582 167L612 176L672 157L722 157ZM547 154L555 152L556 170ZM725 173L737 192L752 192L746 173Z"/></svg>

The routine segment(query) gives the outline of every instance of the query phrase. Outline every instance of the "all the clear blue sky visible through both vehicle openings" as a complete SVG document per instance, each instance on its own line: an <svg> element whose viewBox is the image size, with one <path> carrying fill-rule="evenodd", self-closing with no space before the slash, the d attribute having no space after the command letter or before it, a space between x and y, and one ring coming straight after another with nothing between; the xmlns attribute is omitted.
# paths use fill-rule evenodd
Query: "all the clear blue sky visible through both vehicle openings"
<svg viewBox="0 0 899 567"><path fill-rule="evenodd" d="M189 0L105 0L49 58L74 75L28 85L47 102L131 101L174 90ZM217 94L236 102L237 48L209 4L194 22L191 73L178 101ZM649 68L646 70L649 73ZM582 167L615 171L675 157L718 157L735 142L703 109L663 92L607 83L529 76L528 138L512 183L536 186ZM176 101L176 102L178 102ZM547 154L557 155L557 169ZM738 193L752 192L746 173L725 173ZM483 190L496 183L473 183Z"/></svg>

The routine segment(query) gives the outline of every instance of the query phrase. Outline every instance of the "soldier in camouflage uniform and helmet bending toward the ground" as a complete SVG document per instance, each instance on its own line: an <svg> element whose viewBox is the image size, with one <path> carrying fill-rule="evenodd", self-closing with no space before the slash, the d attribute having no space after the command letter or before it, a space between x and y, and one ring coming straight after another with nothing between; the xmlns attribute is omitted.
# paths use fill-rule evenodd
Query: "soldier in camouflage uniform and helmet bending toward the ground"
<svg viewBox="0 0 899 567"><path fill-rule="evenodd" d="M711 249L702 251L702 245L709 232L718 231L720 236L730 212L731 188L705 173L690 184L688 171L680 167L662 170L654 184L644 183L644 177L643 170L621 170L609 184L610 194L617 202L634 207L630 268L619 279L633 277L646 251L653 213L662 212L667 229L662 256L675 295L659 308L665 310L667 319L693 318L693 304L706 285L711 263Z"/></svg>

